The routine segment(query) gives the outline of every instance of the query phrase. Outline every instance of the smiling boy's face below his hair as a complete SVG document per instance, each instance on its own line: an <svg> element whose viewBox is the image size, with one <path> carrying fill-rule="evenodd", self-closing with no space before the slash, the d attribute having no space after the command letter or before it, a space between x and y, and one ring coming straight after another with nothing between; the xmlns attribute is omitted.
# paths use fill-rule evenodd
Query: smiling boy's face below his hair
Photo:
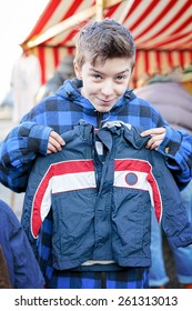
<svg viewBox="0 0 192 311"><path fill-rule="evenodd" d="M131 78L131 59L107 59L95 66L85 62L80 69L74 63L77 78L82 80L81 93L99 112L108 112L124 94Z"/></svg>

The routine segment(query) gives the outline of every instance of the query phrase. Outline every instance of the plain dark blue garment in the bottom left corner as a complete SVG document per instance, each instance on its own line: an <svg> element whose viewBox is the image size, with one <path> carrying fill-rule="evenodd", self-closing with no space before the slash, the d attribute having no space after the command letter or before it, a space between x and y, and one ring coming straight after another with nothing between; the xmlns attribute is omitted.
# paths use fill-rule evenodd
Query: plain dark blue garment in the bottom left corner
<svg viewBox="0 0 192 311"><path fill-rule="evenodd" d="M7 261L11 287L42 289L44 280L23 228L11 208L2 200L0 200L0 244Z"/></svg>

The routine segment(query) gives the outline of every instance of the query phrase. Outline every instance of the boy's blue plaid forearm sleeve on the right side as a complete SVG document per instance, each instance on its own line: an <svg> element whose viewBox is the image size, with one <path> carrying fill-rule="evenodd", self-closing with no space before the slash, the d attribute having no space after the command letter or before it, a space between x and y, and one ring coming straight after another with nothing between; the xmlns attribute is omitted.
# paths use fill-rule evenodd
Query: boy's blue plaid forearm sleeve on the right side
<svg viewBox="0 0 192 311"><path fill-rule="evenodd" d="M165 157L175 182L182 190L192 178L192 137L182 130L166 128L166 134L158 151Z"/></svg>

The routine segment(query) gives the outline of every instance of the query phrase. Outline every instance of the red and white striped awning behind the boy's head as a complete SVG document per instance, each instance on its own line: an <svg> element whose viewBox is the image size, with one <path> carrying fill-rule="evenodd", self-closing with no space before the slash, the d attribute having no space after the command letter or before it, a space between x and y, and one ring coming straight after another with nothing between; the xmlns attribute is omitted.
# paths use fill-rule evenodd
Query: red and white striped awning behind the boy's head
<svg viewBox="0 0 192 311"><path fill-rule="evenodd" d="M42 83L67 53L74 52L73 37L80 26L107 17L133 34L134 86L144 73L192 63L192 0L50 0L22 42L40 59Z"/></svg>

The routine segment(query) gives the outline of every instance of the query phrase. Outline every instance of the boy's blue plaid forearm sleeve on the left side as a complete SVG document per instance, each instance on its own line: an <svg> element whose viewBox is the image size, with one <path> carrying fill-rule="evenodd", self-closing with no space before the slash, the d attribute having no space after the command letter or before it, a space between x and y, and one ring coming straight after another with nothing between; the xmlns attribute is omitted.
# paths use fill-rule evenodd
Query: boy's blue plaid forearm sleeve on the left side
<svg viewBox="0 0 192 311"><path fill-rule="evenodd" d="M38 153L47 154L51 128L23 122L0 143L0 181L16 192L26 191L28 175Z"/></svg>

